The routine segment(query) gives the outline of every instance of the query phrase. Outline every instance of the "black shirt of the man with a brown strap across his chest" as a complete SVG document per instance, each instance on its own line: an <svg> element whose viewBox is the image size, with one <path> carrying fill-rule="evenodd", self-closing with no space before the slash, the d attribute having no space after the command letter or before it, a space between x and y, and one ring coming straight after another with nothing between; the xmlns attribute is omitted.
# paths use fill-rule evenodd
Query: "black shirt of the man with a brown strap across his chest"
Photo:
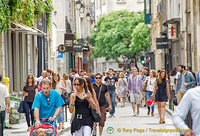
<svg viewBox="0 0 200 136"><path fill-rule="evenodd" d="M100 88L102 86L102 89L101 89L101 94L100 94L100 97L99 97L99 91L100 91ZM97 100L99 98L99 106L102 107L102 106L106 106L106 97L105 97L105 94L108 92L108 88L105 84L101 84L99 87L94 83L93 84L93 88L96 92L96 96L97 96Z"/></svg>

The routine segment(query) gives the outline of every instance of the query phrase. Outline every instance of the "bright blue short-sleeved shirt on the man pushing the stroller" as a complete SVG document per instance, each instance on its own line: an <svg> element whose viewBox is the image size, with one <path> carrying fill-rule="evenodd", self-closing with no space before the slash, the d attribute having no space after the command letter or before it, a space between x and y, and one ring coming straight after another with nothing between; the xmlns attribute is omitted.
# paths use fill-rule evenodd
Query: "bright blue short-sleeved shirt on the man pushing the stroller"
<svg viewBox="0 0 200 136"><path fill-rule="evenodd" d="M47 98L49 98L49 103ZM49 117L53 117L56 109L62 106L63 104L64 101L57 91L50 90L49 97L45 96L43 94L43 91L41 91L36 94L32 109L39 109L39 119L48 119ZM43 121L41 121L41 123L42 122ZM53 124L53 122L45 123Z"/></svg>

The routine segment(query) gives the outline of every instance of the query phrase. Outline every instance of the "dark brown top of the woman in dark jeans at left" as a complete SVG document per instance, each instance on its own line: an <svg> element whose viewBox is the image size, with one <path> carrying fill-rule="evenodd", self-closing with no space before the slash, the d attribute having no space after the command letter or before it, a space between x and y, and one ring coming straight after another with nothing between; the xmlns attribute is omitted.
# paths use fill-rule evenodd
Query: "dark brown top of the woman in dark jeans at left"
<svg viewBox="0 0 200 136"><path fill-rule="evenodd" d="M24 86L24 91L28 93L28 96L25 96L24 101L33 102L35 98L35 89L38 88L37 85L33 86Z"/></svg>

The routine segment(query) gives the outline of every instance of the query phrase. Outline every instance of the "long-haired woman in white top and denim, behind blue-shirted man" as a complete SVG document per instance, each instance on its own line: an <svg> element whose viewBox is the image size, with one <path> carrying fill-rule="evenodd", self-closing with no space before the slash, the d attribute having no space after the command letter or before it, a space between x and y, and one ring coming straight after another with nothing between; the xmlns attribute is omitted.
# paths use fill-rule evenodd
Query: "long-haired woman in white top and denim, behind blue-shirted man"
<svg viewBox="0 0 200 136"><path fill-rule="evenodd" d="M63 80L60 80L59 74L53 75L52 88L55 89L60 95L66 91L65 84ZM60 114L57 116L57 121L59 123L58 130L61 128L61 123L62 129L64 129L64 107L62 107Z"/></svg>

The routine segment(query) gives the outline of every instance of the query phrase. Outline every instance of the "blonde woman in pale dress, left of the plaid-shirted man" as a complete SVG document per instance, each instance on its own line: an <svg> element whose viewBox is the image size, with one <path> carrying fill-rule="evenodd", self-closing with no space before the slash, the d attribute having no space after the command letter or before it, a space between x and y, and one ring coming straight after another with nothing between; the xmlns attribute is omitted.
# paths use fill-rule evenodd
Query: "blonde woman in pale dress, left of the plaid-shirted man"
<svg viewBox="0 0 200 136"><path fill-rule="evenodd" d="M127 85L128 83L125 78L125 75L121 72L119 74L119 80L117 83L117 94L121 101L121 107L125 107Z"/></svg>

